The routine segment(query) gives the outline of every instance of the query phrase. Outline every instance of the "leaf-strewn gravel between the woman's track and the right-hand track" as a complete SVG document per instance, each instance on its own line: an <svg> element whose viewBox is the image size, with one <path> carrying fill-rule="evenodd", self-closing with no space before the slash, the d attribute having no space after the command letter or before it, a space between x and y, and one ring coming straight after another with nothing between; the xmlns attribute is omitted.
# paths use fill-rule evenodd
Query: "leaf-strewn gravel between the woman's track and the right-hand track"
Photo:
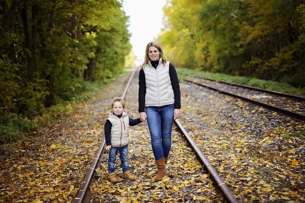
<svg viewBox="0 0 305 203"><path fill-rule="evenodd" d="M305 200L304 122L190 83L182 91L180 122L238 200Z"/></svg>

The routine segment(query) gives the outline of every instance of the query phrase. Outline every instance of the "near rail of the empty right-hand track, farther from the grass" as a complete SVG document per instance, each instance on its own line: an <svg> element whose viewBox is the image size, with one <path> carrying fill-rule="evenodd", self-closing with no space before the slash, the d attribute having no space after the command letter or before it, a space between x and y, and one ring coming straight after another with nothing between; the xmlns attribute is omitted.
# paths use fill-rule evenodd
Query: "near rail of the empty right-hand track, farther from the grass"
<svg viewBox="0 0 305 203"><path fill-rule="evenodd" d="M281 109L281 108L278 108L278 107L275 107L275 106L271 106L271 105L268 105L268 104L265 104L265 103L261 103L260 101L256 101L256 100L253 100L253 99L250 99L250 98L239 96L237 94L232 94L230 92L219 90L217 88L210 87L208 85L204 85L204 84L201 84L201 83L197 83L195 81L191 81L191 80L188 80L188 79L184 79L184 80L187 81L187 82L191 82L191 83L203 86L203 87L210 88L210 89L218 91L218 92L220 92L222 94L227 94L227 95L230 95L230 96L234 96L234 97L240 98L240 99L248 101L249 103L252 103L254 105L261 106L261 107L263 107L265 109L278 112L279 114L281 114L283 116L287 116L287 117L293 118L293 119L295 119L297 121L300 121L300 122L305 121L305 115L298 114L298 113L295 113L295 112L292 112L292 111L288 111L288 110L285 110L285 109Z"/></svg>

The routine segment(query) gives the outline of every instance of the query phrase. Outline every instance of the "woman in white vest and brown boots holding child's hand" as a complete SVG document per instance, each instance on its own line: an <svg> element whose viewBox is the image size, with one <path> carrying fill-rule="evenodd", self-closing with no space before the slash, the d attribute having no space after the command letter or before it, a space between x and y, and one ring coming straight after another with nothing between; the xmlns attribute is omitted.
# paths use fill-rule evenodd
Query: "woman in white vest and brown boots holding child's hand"
<svg viewBox="0 0 305 203"><path fill-rule="evenodd" d="M156 42L146 46L145 59L139 73L139 112L150 132L158 174L156 181L166 175L166 163L171 148L173 119L180 116L180 86L175 66L166 61Z"/></svg>

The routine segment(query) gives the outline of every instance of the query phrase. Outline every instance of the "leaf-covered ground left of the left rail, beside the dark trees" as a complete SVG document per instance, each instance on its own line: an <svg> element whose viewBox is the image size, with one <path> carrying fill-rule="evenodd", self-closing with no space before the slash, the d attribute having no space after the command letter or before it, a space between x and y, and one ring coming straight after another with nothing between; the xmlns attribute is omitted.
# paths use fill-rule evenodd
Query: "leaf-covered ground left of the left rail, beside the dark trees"
<svg viewBox="0 0 305 203"><path fill-rule="evenodd" d="M111 100L121 96L129 77L103 86L37 136L3 146L0 202L72 202L102 141Z"/></svg>

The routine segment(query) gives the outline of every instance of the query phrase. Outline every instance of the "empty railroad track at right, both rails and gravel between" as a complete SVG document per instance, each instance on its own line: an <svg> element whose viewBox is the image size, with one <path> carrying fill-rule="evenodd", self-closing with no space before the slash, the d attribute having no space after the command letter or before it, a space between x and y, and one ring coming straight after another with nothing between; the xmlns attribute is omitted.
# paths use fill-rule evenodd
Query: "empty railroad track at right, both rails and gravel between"
<svg viewBox="0 0 305 203"><path fill-rule="evenodd" d="M186 75L188 76L188 75ZM190 76L192 79L184 79L212 90L227 94L251 104L277 112L283 116L297 121L305 121L305 97L268 91L246 85L239 85L225 81Z"/></svg>

